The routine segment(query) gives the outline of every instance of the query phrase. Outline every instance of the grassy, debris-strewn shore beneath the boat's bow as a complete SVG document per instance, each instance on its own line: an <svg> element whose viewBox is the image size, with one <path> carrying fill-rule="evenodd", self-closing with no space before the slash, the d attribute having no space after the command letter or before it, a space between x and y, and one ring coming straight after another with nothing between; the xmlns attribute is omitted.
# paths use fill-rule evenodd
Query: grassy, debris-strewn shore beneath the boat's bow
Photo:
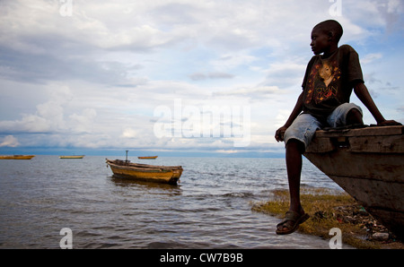
<svg viewBox="0 0 404 267"><path fill-rule="evenodd" d="M300 233L330 239L329 229L340 228L345 245L360 249L404 249L404 244L394 234L345 192L303 187L301 201L310 219L299 226ZM252 211L280 219L288 209L287 189L274 190L267 202L253 202L251 206Z"/></svg>

